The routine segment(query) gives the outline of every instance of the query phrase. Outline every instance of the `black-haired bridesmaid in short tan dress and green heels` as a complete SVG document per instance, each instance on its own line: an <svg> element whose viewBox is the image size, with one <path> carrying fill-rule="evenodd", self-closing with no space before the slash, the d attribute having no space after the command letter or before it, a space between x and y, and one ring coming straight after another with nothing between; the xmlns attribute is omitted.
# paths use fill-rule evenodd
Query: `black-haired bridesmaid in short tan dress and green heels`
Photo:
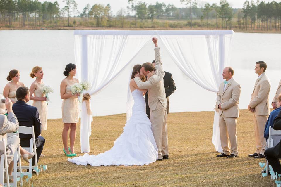
<svg viewBox="0 0 281 187"><path fill-rule="evenodd" d="M68 157L76 156L74 153L74 143L76 137L76 123L79 122L79 101L78 95L73 96L70 88L73 84L78 83L78 79L73 78L76 75L76 65L68 64L65 67L64 76L67 76L61 81L61 111L64 129L62 131L62 142L64 144L64 154ZM70 128L69 139L70 147L67 145L68 130Z"/></svg>

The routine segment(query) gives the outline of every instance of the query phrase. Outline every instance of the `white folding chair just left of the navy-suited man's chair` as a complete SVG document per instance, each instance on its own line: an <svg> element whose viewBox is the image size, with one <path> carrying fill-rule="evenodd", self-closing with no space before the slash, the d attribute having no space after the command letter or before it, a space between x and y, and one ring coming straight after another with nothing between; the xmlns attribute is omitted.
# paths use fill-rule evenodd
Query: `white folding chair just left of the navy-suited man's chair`
<svg viewBox="0 0 281 187"><path fill-rule="evenodd" d="M7 133L7 137L9 136L13 136L13 135L16 135L16 136L19 136L18 135L18 131L16 133ZM18 148L17 148L17 151L15 151L14 153L14 169L13 169L13 172L12 172L12 177L14 179L14 182L13 182L13 186L17 186L17 177L20 176L20 173L22 172L21 170L21 160L20 160L20 145L18 145ZM18 162L18 166L17 166L17 162ZM18 170L20 172L18 172ZM20 183L21 183L21 186L23 186L23 179L20 178Z"/></svg>

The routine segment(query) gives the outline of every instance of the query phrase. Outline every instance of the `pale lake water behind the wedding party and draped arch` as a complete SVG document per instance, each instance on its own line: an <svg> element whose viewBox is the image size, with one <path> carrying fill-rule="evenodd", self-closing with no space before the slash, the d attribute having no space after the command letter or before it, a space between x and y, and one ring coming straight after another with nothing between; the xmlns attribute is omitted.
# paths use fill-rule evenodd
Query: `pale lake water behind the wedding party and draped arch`
<svg viewBox="0 0 281 187"><path fill-rule="evenodd" d="M271 81L270 101L275 95L281 79L281 34L235 33L232 45L231 66L235 70L234 79L241 84L239 106L247 108L254 83L257 79L254 66L263 60L268 64L266 73ZM145 54L154 59L153 49ZM149 60L150 61L150 60ZM170 112L211 111L216 101L216 93L207 91L189 78L162 54L164 70L171 72L177 90L170 98ZM48 118L61 118L62 100L59 94L61 80L65 78L65 65L75 63L73 30L4 30L0 31L0 93L7 84L6 77L11 69L20 70L20 82L30 87L34 81L29 73L34 66L44 70L44 83L54 89L50 94ZM138 56L132 64L138 61ZM92 96L92 111L95 116L126 112L128 72L119 75L104 90ZM28 104L32 104L30 101Z"/></svg>

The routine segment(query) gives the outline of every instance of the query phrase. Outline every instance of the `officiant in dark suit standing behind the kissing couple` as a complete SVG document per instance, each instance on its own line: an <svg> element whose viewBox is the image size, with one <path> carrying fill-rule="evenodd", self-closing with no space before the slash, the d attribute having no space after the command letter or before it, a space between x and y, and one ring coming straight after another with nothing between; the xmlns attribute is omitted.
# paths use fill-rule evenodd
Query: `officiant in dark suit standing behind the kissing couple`
<svg viewBox="0 0 281 187"><path fill-rule="evenodd" d="M153 65L155 65L155 60L152 61ZM167 115L169 114L169 96L174 93L177 89L172 74L169 72L164 71L164 88L167 97ZM148 118L150 118L150 108L148 106L148 92L145 93L145 103L146 103L146 114Z"/></svg>

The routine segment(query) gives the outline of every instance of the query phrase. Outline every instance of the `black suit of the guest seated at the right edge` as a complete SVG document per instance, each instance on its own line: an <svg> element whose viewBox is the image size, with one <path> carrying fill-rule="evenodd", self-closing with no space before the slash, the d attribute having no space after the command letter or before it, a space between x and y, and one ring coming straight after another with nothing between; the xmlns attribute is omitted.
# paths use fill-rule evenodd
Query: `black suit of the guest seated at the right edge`
<svg viewBox="0 0 281 187"><path fill-rule="evenodd" d="M273 129L281 130L281 112L279 112L274 120ZM278 174L281 174L281 165L279 162L279 158L281 158L280 142L272 148L267 148L264 152L266 160L268 160L268 163L272 166L273 171L277 172Z"/></svg>

